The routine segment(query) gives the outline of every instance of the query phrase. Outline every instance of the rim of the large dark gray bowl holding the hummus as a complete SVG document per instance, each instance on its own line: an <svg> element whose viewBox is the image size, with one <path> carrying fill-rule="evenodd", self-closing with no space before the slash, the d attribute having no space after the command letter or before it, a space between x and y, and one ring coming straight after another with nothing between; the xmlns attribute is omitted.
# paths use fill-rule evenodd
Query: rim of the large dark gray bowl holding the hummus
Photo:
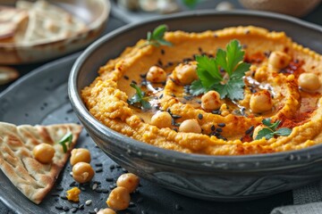
<svg viewBox="0 0 322 214"><path fill-rule="evenodd" d="M115 144L114 146L126 150L131 155L137 155L145 160L159 163L159 159L164 165L172 166L174 163L178 167L185 169L196 169L207 171L229 171L229 172L255 172L255 171L272 171L272 170L284 170L306 167L310 164L322 161L322 144L313 145L308 148L287 152L275 152L275 153L261 153L261 154L246 154L246 155L206 155L195 153L176 152L172 150L166 150L157 146L143 143L134 140L128 136L124 136L111 128L107 128L103 123L92 116L84 103L80 98L80 93L77 89L77 79L79 71L86 59L91 53L94 53L99 45L104 44L109 39L117 37L120 34L125 33L127 30L135 29L146 24L159 21L171 21L177 19L184 19L191 16L221 16L221 15L248 15L254 17L263 17L267 19L279 19L283 21L289 21L293 24L300 25L301 27L314 29L322 33L322 27L316 24L309 23L307 21L301 21L297 18L293 18L287 15L275 13L275 12L259 12L259 11L245 11L234 10L230 12L214 12L211 10L192 11L192 12L179 12L171 15L165 15L162 18L153 18L148 21L140 21L128 24L115 29L114 31L106 34L104 37L97 39L92 45L80 54L76 62L72 66L70 77L68 80L68 94L70 102L74 112L80 118L82 123L86 122L90 126L91 131L95 135L104 139L108 136L112 142L121 141L123 144ZM124 47L125 48L125 47ZM86 127L86 126L85 126ZM89 133L90 134L90 133ZM144 152L142 152L144 151ZM156 155L157 154L157 155Z"/></svg>

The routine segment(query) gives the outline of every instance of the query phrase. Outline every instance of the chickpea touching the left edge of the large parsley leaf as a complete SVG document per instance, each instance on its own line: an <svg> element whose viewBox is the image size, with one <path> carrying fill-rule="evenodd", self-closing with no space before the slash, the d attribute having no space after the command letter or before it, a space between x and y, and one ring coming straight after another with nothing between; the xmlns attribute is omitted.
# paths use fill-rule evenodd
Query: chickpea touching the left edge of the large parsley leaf
<svg viewBox="0 0 322 214"><path fill-rule="evenodd" d="M193 80L198 79L196 64L180 64L174 71L176 78L184 85L191 84Z"/></svg>

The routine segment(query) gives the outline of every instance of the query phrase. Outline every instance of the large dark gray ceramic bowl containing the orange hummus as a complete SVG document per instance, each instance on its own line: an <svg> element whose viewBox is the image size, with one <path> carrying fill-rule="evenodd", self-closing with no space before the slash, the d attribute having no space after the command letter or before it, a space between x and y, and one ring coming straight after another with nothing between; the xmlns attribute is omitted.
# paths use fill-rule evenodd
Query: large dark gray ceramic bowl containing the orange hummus
<svg viewBox="0 0 322 214"><path fill-rule="evenodd" d="M207 156L167 151L140 143L106 128L86 109L80 90L97 70L124 47L165 23L171 30L202 31L255 25L283 30L294 41L322 53L322 29L307 22L268 12L190 12L117 29L80 55L69 78L72 108L96 144L115 162L140 177L191 197L241 201L291 190L322 175L322 145L293 152L244 156Z"/></svg>

